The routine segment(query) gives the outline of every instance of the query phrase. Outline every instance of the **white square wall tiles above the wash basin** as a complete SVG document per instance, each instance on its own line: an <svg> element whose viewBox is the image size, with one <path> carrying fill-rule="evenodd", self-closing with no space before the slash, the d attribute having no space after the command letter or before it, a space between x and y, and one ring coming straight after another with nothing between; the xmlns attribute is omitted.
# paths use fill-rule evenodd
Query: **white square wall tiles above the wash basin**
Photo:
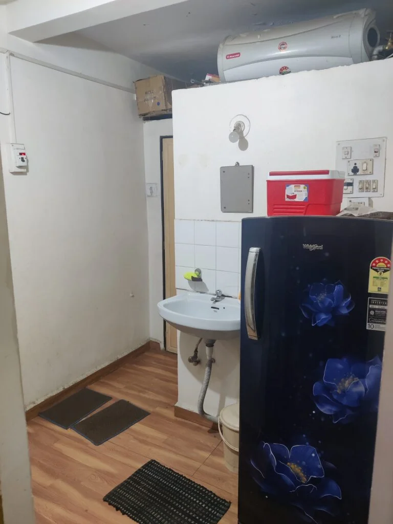
<svg viewBox="0 0 393 524"><path fill-rule="evenodd" d="M241 223L175 220L176 287L238 297L240 286ZM202 282L184 273L202 270Z"/></svg>

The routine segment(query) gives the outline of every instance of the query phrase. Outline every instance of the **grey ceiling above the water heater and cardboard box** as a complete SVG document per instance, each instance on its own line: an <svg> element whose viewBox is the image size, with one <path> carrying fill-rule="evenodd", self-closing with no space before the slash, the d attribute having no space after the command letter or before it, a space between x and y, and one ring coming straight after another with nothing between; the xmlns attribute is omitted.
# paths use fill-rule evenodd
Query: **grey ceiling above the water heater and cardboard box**
<svg viewBox="0 0 393 524"><path fill-rule="evenodd" d="M183 80L217 72L217 49L227 35L345 13L377 11L393 27L392 0L187 0L78 31L107 48Z"/></svg>

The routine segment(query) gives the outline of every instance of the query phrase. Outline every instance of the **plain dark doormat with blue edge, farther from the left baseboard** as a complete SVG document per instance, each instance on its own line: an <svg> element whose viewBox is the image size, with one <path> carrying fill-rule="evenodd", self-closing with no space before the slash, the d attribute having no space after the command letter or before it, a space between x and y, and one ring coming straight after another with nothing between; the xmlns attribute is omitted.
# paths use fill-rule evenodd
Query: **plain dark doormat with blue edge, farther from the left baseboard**
<svg viewBox="0 0 393 524"><path fill-rule="evenodd" d="M149 414L127 400L118 400L111 406L75 424L72 429L99 446Z"/></svg>

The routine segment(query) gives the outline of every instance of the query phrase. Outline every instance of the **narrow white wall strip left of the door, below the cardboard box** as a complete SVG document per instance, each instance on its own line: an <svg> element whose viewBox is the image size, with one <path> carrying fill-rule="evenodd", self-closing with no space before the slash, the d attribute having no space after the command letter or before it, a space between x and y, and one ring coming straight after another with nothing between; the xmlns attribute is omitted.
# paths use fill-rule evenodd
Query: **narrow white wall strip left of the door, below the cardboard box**
<svg viewBox="0 0 393 524"><path fill-rule="evenodd" d="M145 122L145 180L161 186L160 137L172 136L172 119ZM163 321L157 303L163 298L162 282L162 215L161 195L147 198L147 224L149 239L149 323L151 339L163 347Z"/></svg>

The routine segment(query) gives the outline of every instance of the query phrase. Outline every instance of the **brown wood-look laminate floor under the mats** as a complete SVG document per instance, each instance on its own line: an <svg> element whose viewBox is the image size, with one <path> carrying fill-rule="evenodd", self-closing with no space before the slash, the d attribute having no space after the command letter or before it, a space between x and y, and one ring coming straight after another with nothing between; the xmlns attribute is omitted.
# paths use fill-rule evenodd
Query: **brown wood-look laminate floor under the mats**
<svg viewBox="0 0 393 524"><path fill-rule="evenodd" d="M39 417L31 420L37 524L134 522L102 498L150 459L231 500L221 524L237 524L237 475L225 468L219 434L173 415L175 355L150 350L90 387L113 397L112 402L126 399L151 414L101 446Z"/></svg>

